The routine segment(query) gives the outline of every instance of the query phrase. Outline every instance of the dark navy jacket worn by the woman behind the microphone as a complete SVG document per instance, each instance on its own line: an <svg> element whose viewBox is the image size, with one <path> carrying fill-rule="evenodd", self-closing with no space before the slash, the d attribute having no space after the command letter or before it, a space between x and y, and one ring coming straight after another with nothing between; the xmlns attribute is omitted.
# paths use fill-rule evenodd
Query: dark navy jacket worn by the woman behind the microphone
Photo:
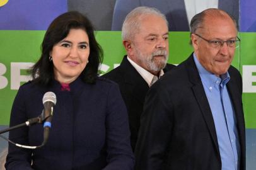
<svg viewBox="0 0 256 170"><path fill-rule="evenodd" d="M87 84L78 78L70 88L61 91L57 81L49 88L33 81L20 87L10 126L40 115L47 91L56 94L57 103L47 144L34 150L10 144L6 169L133 169L127 110L118 85L103 78ZM43 133L44 128L38 124L9 132L9 139L37 146L42 143Z"/></svg>

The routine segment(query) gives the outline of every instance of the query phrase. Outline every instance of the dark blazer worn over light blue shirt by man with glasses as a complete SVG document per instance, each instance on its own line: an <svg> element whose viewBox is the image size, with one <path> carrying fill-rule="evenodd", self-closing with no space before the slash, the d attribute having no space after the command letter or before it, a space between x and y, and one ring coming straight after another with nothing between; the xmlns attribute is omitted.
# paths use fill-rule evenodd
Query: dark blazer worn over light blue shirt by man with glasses
<svg viewBox="0 0 256 170"><path fill-rule="evenodd" d="M228 72L240 137L240 170L245 170L241 76L232 66ZM136 170L221 170L214 120L193 55L149 89L135 156Z"/></svg>

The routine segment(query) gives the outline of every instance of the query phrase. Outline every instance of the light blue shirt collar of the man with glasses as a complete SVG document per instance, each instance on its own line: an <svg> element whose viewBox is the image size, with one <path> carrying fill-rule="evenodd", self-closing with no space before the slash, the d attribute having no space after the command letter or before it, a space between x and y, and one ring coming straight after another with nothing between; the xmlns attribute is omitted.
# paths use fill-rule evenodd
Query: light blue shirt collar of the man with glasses
<svg viewBox="0 0 256 170"><path fill-rule="evenodd" d="M230 81L230 74L228 74L228 72L218 77L202 67L199 60L197 60L195 53L193 54L193 57L202 82L205 83L208 88L214 86L214 84L218 84L223 88L228 81Z"/></svg>

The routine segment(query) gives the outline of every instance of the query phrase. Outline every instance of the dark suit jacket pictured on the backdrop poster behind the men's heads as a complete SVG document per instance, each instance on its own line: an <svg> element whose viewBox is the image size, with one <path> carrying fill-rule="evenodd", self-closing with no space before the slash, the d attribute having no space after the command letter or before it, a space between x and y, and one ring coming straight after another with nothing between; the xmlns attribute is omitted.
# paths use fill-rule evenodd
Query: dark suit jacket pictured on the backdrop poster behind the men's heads
<svg viewBox="0 0 256 170"><path fill-rule="evenodd" d="M125 16L138 6L157 8L165 14L170 31L189 31L190 21L187 20L187 12L183 0L117 0L113 9L112 30L122 29ZM238 23L239 0L221 0L219 9L230 13Z"/></svg>

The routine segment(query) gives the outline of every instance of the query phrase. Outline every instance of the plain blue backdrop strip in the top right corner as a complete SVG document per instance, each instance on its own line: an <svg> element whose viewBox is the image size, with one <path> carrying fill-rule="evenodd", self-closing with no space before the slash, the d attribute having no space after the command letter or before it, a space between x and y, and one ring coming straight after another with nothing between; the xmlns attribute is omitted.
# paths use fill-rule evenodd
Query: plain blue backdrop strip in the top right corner
<svg viewBox="0 0 256 170"><path fill-rule="evenodd" d="M255 6L255 0L240 0L240 28L242 32L256 32Z"/></svg>

